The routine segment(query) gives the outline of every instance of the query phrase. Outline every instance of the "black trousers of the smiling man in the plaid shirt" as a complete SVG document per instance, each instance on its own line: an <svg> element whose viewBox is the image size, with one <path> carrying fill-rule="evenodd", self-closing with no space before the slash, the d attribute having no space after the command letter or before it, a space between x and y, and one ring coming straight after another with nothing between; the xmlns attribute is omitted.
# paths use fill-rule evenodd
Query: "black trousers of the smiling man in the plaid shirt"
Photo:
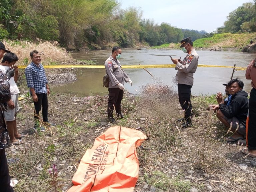
<svg viewBox="0 0 256 192"><path fill-rule="evenodd" d="M38 101L34 102L35 111L34 111L34 119L35 126L38 126L39 123L39 113L42 109L43 121L48 121L48 97L47 93L36 93Z"/></svg>

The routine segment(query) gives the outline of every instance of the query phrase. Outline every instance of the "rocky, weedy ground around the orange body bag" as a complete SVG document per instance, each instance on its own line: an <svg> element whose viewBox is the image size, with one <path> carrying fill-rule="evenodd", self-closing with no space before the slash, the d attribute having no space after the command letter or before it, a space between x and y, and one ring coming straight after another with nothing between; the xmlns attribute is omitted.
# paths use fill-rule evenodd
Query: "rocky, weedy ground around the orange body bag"
<svg viewBox="0 0 256 192"><path fill-rule="evenodd" d="M216 115L205 110L215 102L214 97L192 99L195 117L192 127L187 129L176 121L182 117L182 110L177 96L171 97L172 104L163 109L170 111L167 117L163 116L166 113L161 113L161 117L158 113L147 113L154 110L154 100L145 95L141 99L126 93L122 101L125 119L117 124L149 136L142 144L149 150L137 149L140 169L134 192L255 191L256 159L239 152L244 146L225 142L232 133L226 134ZM157 106L165 105L167 100L155 96L153 99L162 101L156 102ZM79 98L51 93L49 119L57 126L37 133L32 130L31 97L27 95L21 100L23 109L17 116L17 128L27 138L20 145L6 148L10 175L18 180L15 191L43 192L49 187L49 191L55 191L56 187L66 192L86 149L113 126L107 120L106 104L107 96ZM141 107L148 110L141 111ZM55 184L49 174L53 164L58 170Z"/></svg>

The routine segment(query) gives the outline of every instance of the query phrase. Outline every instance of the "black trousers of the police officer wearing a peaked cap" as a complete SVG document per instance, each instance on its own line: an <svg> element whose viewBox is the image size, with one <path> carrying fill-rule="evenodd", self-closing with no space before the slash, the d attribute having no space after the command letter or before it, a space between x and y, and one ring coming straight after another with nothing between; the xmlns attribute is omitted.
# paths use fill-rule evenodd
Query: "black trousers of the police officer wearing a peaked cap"
<svg viewBox="0 0 256 192"><path fill-rule="evenodd" d="M185 111L185 121L191 123L192 105L190 101L191 85L178 84L179 102Z"/></svg>

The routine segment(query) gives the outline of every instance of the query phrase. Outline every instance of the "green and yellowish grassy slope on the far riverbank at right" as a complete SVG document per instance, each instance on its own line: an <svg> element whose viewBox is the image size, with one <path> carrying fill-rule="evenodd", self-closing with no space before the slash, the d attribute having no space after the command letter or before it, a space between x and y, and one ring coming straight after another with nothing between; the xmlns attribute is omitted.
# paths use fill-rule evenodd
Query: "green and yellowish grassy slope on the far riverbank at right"
<svg viewBox="0 0 256 192"><path fill-rule="evenodd" d="M222 48L240 48L250 44L250 40L256 41L256 33L221 33L214 34L209 38L197 39L194 41L193 46L196 48L210 48L210 47L222 47Z"/></svg>

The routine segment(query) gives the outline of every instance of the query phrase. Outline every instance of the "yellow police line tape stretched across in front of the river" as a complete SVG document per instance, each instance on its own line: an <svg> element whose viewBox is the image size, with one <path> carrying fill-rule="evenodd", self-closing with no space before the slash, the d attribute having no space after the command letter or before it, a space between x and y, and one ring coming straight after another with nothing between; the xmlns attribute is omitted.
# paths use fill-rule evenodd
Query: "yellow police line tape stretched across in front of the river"
<svg viewBox="0 0 256 192"><path fill-rule="evenodd" d="M175 68L175 64L164 64L164 65L122 65L124 69L143 69L143 68ZM27 66L19 65L20 69L25 69ZM198 67L222 67L222 68L234 68L232 66L222 65L198 65ZM44 65L46 69L54 68L105 68L104 65ZM236 70L246 70L246 67L235 67Z"/></svg>

